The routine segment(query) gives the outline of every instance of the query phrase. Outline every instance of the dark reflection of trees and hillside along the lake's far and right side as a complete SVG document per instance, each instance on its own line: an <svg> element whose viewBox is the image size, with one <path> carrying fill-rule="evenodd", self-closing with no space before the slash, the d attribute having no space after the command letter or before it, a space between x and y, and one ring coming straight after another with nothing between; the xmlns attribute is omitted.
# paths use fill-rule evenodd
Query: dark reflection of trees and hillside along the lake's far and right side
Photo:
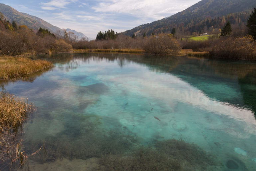
<svg viewBox="0 0 256 171"><path fill-rule="evenodd" d="M256 63L225 62L181 56L145 56L124 53L58 54L55 55L55 57L56 61L59 60L59 64L63 63L62 67L67 71L68 69L77 68L79 60L86 63L90 63L90 61L117 61L120 67L135 62L147 66L153 72L184 75L185 77L182 78L184 81L200 89L207 96L234 105L246 106L252 108L254 112L256 111L256 100L254 98L256 97ZM201 87L200 81L213 85L220 81L238 91L241 89L243 99L227 99L227 97L224 97L217 89L215 91L214 89L207 90L205 87ZM238 87L233 87L234 85L238 85Z"/></svg>

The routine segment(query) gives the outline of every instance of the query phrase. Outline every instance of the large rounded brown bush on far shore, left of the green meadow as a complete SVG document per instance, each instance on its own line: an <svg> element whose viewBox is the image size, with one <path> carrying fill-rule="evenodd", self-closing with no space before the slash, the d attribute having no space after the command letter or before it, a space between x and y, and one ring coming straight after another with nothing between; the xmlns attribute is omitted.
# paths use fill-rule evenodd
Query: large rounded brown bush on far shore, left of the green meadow
<svg viewBox="0 0 256 171"><path fill-rule="evenodd" d="M181 47L171 34L159 34L151 36L143 49L149 54L177 54Z"/></svg>

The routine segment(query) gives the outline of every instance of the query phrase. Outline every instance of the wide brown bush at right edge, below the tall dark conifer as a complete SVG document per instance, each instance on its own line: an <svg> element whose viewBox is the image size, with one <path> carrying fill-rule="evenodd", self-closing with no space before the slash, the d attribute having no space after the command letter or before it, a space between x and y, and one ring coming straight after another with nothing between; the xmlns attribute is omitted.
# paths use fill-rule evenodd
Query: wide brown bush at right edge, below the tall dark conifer
<svg viewBox="0 0 256 171"><path fill-rule="evenodd" d="M221 39L210 54L225 59L256 60L256 42L251 36Z"/></svg>

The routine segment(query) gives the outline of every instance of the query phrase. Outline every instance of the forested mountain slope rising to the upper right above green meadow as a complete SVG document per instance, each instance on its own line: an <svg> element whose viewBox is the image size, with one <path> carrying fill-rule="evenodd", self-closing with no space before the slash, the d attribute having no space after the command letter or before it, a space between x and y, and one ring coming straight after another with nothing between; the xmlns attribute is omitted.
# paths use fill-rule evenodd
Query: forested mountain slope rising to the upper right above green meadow
<svg viewBox="0 0 256 171"><path fill-rule="evenodd" d="M170 17L137 26L123 32L126 35L151 35L152 33L207 33L221 29L227 21L245 26L256 6L256 0L202 0Z"/></svg>

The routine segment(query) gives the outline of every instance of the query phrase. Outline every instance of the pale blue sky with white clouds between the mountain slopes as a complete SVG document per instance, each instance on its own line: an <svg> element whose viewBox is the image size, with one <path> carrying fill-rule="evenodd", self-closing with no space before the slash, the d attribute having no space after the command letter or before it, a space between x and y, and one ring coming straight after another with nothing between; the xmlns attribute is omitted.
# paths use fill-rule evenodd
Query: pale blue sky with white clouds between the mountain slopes
<svg viewBox="0 0 256 171"><path fill-rule="evenodd" d="M61 29L96 38L99 31L123 32L169 17L199 0L1 0L19 12L39 17Z"/></svg>

